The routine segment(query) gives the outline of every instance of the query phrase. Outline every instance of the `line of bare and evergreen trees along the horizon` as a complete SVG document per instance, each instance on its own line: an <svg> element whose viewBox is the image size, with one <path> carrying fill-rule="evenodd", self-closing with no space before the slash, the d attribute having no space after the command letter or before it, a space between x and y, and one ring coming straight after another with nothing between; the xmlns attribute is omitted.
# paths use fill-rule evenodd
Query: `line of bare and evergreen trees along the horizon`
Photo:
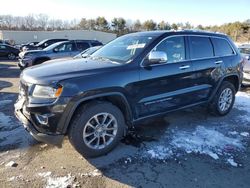
<svg viewBox="0 0 250 188"><path fill-rule="evenodd" d="M136 31L149 30L178 30L198 29L225 33L237 42L250 41L250 19L244 22L227 23L220 26L193 26L187 23L172 23L167 21L155 22L154 20L125 20L113 18L110 22L105 17L96 19L81 18L79 20L51 19L46 14L29 14L27 16L0 15L0 30L24 30L24 31L54 31L54 30L97 30L112 32L119 35Z"/></svg>

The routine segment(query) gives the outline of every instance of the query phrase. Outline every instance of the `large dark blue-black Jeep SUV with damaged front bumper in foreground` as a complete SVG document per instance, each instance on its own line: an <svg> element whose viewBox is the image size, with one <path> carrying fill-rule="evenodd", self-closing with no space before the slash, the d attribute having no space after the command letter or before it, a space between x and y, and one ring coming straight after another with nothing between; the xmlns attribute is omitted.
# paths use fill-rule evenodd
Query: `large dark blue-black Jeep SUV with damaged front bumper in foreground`
<svg viewBox="0 0 250 188"><path fill-rule="evenodd" d="M133 33L88 58L23 71L15 113L37 140L60 146L68 135L78 152L94 157L147 118L200 104L226 115L242 69L238 49L223 34Z"/></svg>

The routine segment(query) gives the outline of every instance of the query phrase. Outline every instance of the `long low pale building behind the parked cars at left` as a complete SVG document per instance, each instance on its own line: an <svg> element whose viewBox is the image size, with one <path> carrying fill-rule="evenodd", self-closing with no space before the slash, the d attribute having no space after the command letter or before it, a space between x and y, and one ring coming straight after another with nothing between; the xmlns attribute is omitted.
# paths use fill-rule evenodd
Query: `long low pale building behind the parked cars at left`
<svg viewBox="0 0 250 188"><path fill-rule="evenodd" d="M44 39L89 39L107 43L116 38L116 34L92 30L63 30L63 31L0 31L0 39L14 41L15 44L40 42Z"/></svg>

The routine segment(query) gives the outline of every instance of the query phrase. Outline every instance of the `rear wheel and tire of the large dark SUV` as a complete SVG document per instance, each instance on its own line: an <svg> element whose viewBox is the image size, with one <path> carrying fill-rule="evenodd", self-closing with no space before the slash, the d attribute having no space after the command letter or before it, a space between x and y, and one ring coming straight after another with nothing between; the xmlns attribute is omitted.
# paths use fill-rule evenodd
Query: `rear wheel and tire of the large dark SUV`
<svg viewBox="0 0 250 188"><path fill-rule="evenodd" d="M227 115L234 105L235 93L236 91L234 85L231 82L223 81L217 93L215 94L212 102L209 105L209 112L216 116ZM223 96L228 97L225 97L223 99ZM227 102L223 103L223 101Z"/></svg>

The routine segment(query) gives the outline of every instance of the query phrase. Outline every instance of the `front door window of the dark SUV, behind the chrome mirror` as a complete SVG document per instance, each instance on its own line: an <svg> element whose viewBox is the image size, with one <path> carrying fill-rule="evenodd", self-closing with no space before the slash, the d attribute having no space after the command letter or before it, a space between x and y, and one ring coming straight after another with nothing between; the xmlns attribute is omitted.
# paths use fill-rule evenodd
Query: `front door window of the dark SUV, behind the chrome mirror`
<svg viewBox="0 0 250 188"><path fill-rule="evenodd" d="M168 57L168 63L185 60L184 37L168 38L156 46L154 50L165 52Z"/></svg>

